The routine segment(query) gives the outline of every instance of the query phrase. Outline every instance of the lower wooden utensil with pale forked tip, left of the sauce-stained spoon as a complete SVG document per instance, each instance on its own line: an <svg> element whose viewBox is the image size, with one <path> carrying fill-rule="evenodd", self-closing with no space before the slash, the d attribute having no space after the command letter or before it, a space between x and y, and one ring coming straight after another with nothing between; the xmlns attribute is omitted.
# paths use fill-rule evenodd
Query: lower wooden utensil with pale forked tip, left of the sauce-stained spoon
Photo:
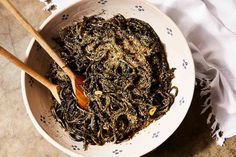
<svg viewBox="0 0 236 157"><path fill-rule="evenodd" d="M25 71L27 74L29 74L34 79L36 79L41 84L43 84L45 87L47 87L51 91L52 95L57 100L57 102L61 103L61 100L58 94L58 92L60 91L60 87L58 85L51 83L48 79L46 79L45 77L43 77L42 75L40 75L39 73L31 69L30 67L28 67L26 64L24 64L22 61L17 59L15 56L13 56L11 53L9 53L7 50L2 48L1 46L0 46L0 55L6 58L7 60L9 60L10 62L12 62L13 64L15 64L17 67L19 67L23 71Z"/></svg>

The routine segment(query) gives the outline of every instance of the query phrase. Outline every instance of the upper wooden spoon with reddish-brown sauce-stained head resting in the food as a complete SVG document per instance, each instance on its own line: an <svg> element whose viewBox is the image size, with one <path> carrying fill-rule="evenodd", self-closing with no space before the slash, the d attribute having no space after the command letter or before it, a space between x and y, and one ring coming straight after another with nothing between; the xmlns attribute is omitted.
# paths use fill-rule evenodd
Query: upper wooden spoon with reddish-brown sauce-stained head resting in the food
<svg viewBox="0 0 236 157"><path fill-rule="evenodd" d="M63 69L63 71L69 76L73 87L74 94L77 98L78 104L81 108L88 110L89 99L85 96L84 90L81 87L83 78L74 74L65 62L56 54L56 52L47 44L42 36L27 22L27 20L16 10L9 0L0 0L0 2L7 8L21 23L21 25L31 33L36 41L46 50L49 56Z"/></svg>

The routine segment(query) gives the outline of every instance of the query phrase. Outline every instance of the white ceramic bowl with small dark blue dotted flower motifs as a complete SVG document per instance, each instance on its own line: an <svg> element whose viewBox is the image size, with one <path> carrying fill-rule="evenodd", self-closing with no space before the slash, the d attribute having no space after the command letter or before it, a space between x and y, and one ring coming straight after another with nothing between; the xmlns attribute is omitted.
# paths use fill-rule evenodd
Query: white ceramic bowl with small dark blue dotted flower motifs
<svg viewBox="0 0 236 157"><path fill-rule="evenodd" d="M82 142L71 140L50 113L52 105L50 92L40 83L34 81L22 72L22 93L27 112L45 139L71 156L141 156L163 143L180 125L184 119L194 91L195 72L192 56L177 26L156 7L140 0L82 0L67 9L50 16L41 26L40 33L52 46L52 37L62 26L83 16L95 15L112 17L121 13L125 17L134 17L149 23L165 44L168 62L175 67L173 84L179 88L174 104L160 120L153 122L135 137L121 144L105 144L104 146L89 146L87 151L82 148ZM32 40L27 50L27 64L45 75L51 59L42 48Z"/></svg>

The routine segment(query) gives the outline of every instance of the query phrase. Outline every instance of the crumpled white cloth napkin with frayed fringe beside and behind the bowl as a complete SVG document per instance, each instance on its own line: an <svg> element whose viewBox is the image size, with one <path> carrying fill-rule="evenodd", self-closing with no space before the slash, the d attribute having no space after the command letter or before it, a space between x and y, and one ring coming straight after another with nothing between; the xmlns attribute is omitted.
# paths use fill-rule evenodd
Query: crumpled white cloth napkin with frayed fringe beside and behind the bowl
<svg viewBox="0 0 236 157"><path fill-rule="evenodd" d="M45 2L57 10L79 0ZM148 0L183 32L195 62L196 79L205 99L202 113L219 145L236 135L236 1Z"/></svg>

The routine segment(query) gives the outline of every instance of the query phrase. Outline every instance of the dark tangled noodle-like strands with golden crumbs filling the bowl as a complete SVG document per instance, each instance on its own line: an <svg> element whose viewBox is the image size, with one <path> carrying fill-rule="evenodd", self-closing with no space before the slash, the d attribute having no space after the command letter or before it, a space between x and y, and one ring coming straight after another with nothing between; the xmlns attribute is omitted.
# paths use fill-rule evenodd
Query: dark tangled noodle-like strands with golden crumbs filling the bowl
<svg viewBox="0 0 236 157"><path fill-rule="evenodd" d="M56 64L49 78L61 86L61 104L52 113L75 141L120 143L164 115L174 102L165 47L146 22L121 14L105 20L84 17L59 32L60 57L78 75L90 99L89 110L77 104L70 79Z"/></svg>

